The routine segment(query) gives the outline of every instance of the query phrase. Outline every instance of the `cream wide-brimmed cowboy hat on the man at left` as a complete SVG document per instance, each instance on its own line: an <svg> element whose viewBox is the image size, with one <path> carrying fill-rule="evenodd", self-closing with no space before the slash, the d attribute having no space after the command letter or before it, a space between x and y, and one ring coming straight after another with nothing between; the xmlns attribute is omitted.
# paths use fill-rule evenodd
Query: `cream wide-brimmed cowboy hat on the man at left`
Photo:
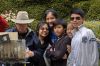
<svg viewBox="0 0 100 66"><path fill-rule="evenodd" d="M19 24L27 24L34 21L34 19L29 19L28 13L26 11L19 11L16 19L11 19L11 21Z"/></svg>

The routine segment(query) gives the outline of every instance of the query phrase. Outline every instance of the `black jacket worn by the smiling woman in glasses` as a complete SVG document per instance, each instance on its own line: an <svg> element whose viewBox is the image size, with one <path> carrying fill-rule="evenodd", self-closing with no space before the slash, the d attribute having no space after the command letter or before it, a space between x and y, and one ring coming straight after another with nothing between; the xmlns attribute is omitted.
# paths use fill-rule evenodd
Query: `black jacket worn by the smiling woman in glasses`
<svg viewBox="0 0 100 66"><path fill-rule="evenodd" d="M45 66L43 54L48 47L49 42L45 41L43 44L41 44L38 36L36 33L34 34L34 43L33 43L33 52L34 56L29 59L29 61L32 61L34 66Z"/></svg>

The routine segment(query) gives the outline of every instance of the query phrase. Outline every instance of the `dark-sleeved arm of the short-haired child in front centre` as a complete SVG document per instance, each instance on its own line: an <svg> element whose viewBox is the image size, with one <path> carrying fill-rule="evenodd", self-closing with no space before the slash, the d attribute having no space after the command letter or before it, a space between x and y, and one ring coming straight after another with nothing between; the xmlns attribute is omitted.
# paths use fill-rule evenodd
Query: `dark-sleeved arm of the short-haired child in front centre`
<svg viewBox="0 0 100 66"><path fill-rule="evenodd" d="M66 46L71 42L70 38L64 37L62 40L58 42L59 46L55 47L55 51L51 52L52 58L54 59L62 59L62 57L66 53Z"/></svg>

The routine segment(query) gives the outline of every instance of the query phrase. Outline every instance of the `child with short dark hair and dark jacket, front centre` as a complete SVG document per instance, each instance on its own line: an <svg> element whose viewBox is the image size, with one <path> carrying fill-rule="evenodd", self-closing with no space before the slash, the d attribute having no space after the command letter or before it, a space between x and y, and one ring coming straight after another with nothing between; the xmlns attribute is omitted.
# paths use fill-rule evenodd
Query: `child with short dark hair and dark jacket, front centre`
<svg viewBox="0 0 100 66"><path fill-rule="evenodd" d="M63 20L57 19L54 23L54 33L57 36L57 42L46 52L46 56L51 59L51 66L66 66L67 59L63 59L66 54L66 46L71 40L65 35L66 24Z"/></svg>

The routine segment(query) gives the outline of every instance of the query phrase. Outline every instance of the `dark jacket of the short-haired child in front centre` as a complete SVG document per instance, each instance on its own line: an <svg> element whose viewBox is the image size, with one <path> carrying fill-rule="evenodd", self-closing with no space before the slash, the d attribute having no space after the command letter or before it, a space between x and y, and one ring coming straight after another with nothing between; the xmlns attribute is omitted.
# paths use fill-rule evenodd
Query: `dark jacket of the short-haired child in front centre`
<svg viewBox="0 0 100 66"><path fill-rule="evenodd" d="M47 50L46 56L50 58L52 62L56 62L58 66L62 66L63 63L62 57L66 54L68 44L71 45L71 39L67 36L62 36L61 38L58 39L58 41L54 44L54 46L50 47L53 49L53 51L50 51L50 48Z"/></svg>

